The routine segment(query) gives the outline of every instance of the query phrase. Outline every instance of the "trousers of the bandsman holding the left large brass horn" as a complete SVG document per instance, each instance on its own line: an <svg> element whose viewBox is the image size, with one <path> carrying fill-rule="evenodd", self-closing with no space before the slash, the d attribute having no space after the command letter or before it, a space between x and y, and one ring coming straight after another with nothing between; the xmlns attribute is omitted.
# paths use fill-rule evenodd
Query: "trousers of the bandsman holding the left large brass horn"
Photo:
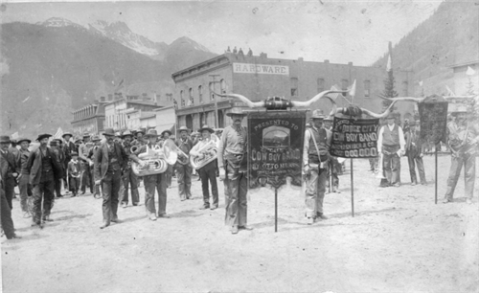
<svg viewBox="0 0 479 293"><path fill-rule="evenodd" d="M166 214L166 189L168 178L165 173L143 176L145 185L145 208L147 213L156 215L155 190L158 192L158 216Z"/></svg>

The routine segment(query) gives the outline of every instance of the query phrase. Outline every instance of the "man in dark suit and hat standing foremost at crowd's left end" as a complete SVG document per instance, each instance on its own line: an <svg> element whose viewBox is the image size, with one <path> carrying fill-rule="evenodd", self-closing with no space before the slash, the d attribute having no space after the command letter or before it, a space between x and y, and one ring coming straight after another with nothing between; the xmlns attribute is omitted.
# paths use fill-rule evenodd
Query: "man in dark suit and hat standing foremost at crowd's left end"
<svg viewBox="0 0 479 293"><path fill-rule="evenodd" d="M49 137L50 134L40 134L37 137L40 146L30 154L27 162L33 188L33 225L40 228L43 228L43 222L52 221L50 213L55 200L55 180L61 178L61 167L55 153L48 147Z"/></svg>

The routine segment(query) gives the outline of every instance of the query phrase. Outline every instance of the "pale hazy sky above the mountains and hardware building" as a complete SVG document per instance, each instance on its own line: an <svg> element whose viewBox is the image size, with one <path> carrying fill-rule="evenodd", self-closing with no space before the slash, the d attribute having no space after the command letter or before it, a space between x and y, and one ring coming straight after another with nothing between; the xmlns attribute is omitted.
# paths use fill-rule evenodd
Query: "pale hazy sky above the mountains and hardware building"
<svg viewBox="0 0 479 293"><path fill-rule="evenodd" d="M0 21L36 23L62 17L87 26L122 21L152 41L187 36L221 54L228 46L272 58L368 66L430 17L430 1L3 1Z"/></svg>

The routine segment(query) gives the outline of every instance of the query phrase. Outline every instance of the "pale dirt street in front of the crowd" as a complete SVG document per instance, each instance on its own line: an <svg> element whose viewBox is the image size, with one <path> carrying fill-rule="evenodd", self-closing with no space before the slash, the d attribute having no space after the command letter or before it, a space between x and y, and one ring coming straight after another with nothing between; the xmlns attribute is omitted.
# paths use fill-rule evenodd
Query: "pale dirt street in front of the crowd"
<svg viewBox="0 0 479 293"><path fill-rule="evenodd" d="M463 175L454 203L434 204L434 157L425 157L427 186L411 186L402 158L399 188L379 188L367 160L354 161L355 217L350 165L340 194L327 194L328 220L306 225L299 191L250 194L248 222L232 235L220 208L201 211L200 182L181 202L174 181L168 219L146 218L143 204L119 208L120 224L100 230L101 200L90 194L55 202L43 230L30 227L14 201L22 239L2 238L4 292L477 292L479 204L465 203ZM439 201L450 165L439 157ZM479 173L479 172L478 172ZM476 175L477 176L477 175ZM477 181L477 180L476 180Z"/></svg>

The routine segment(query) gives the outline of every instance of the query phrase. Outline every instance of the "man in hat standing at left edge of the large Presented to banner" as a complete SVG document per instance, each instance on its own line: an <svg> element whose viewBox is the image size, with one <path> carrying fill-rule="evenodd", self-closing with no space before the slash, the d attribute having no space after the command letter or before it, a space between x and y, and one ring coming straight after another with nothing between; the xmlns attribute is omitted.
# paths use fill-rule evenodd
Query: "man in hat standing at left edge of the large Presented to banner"
<svg viewBox="0 0 479 293"><path fill-rule="evenodd" d="M225 127L218 147L220 178L224 180L226 197L225 224L232 234L239 229L251 230L248 223L248 183L246 178L246 129L241 126L244 114L233 109L226 114L232 125Z"/></svg>

